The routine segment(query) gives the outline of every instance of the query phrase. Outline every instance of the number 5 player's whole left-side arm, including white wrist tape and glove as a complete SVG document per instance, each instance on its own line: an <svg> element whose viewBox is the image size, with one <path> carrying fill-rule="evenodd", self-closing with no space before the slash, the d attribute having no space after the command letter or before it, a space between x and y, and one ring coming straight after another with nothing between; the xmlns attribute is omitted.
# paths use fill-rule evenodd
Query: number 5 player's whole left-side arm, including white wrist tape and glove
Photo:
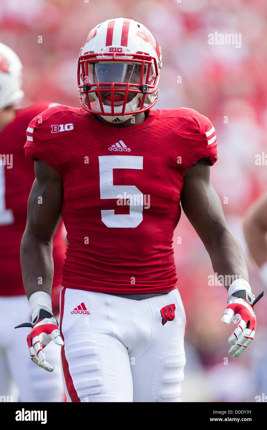
<svg viewBox="0 0 267 430"><path fill-rule="evenodd" d="M35 161L34 170L36 178L28 200L27 224L21 240L21 270L32 323L21 326L32 328L27 337L32 361L52 372L54 368L46 362L43 348L51 340L63 345L51 304L54 273L52 239L61 218L63 184L60 175L41 160Z"/></svg>

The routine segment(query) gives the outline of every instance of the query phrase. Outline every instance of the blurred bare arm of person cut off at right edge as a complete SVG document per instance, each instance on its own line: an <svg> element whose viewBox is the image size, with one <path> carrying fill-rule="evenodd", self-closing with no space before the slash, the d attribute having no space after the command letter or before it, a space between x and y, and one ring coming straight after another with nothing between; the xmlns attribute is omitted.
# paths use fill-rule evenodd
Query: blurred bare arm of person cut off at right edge
<svg viewBox="0 0 267 430"><path fill-rule="evenodd" d="M267 194L249 208L243 228L249 252L261 267L267 262Z"/></svg>

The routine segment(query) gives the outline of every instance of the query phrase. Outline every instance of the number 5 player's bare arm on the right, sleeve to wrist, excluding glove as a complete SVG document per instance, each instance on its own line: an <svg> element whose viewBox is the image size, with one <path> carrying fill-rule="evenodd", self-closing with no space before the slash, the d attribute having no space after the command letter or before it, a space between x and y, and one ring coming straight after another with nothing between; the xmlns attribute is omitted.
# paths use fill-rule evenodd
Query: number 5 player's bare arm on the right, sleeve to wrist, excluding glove
<svg viewBox="0 0 267 430"><path fill-rule="evenodd" d="M215 273L227 279L233 275L249 282L249 274L242 247L229 230L218 194L209 181L210 166L200 160L184 175L181 205L185 215L202 240L212 261Z"/></svg>

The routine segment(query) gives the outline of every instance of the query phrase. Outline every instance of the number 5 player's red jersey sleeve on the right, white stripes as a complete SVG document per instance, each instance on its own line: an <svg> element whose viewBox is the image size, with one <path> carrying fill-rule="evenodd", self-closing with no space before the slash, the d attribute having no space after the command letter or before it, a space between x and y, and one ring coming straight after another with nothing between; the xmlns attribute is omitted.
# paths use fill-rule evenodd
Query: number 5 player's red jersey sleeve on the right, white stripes
<svg viewBox="0 0 267 430"><path fill-rule="evenodd" d="M209 118L196 111L187 118L185 138L188 140L188 151L184 154L183 175L199 160L206 158L209 165L217 161L217 137L215 128Z"/></svg>

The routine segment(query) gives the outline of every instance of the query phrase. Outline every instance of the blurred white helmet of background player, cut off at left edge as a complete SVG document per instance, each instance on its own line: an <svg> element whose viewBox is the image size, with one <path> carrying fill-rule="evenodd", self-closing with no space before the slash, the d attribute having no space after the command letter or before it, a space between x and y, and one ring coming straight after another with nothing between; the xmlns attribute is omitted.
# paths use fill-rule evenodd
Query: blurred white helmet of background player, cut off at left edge
<svg viewBox="0 0 267 430"><path fill-rule="evenodd" d="M24 96L21 91L22 64L18 55L0 43L0 110Z"/></svg>

